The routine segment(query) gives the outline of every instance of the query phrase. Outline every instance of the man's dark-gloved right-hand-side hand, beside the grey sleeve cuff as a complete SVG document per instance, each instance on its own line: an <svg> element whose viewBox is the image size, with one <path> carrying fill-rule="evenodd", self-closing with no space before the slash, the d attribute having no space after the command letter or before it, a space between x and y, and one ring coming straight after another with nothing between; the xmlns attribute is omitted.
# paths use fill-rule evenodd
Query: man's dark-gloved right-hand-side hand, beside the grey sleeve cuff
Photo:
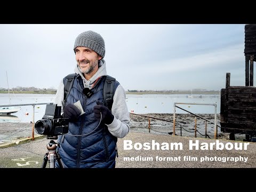
<svg viewBox="0 0 256 192"><path fill-rule="evenodd" d="M101 122L110 125L114 121L114 115L111 114L110 110L105 107L100 105L100 102L97 101L97 105L93 107L93 112L94 112L94 117L100 121L100 112L101 112Z"/></svg>

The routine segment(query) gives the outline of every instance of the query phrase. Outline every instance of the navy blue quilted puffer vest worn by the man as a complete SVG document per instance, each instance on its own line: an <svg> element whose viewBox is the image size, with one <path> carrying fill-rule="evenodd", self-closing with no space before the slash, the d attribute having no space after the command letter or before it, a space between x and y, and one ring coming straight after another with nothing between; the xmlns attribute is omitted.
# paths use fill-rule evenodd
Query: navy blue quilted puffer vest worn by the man
<svg viewBox="0 0 256 192"><path fill-rule="evenodd" d="M64 167L115 167L117 138L110 134L108 127L95 120L93 107L96 101L103 101L103 84L106 76L102 76L94 85L92 96L87 98L83 94L83 82L80 76L75 77L73 87L67 98L67 103L75 103L80 100L85 114L79 116L78 121L69 122L66 135L59 135L58 151ZM116 81L114 92L119 83ZM98 126L97 129L95 129ZM73 136L73 135L82 136ZM60 139L62 137L62 139ZM62 141L63 140L63 141ZM62 141L62 142L61 142ZM59 167L58 162L56 166Z"/></svg>

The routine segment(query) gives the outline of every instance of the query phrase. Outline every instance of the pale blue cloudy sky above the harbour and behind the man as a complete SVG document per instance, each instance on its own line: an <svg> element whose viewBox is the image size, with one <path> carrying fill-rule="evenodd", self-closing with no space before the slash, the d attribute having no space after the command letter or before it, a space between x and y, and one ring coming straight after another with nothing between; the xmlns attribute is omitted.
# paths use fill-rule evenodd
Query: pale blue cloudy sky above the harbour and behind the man
<svg viewBox="0 0 256 192"><path fill-rule="evenodd" d="M10 89L58 89L74 73L75 39L87 30L103 37L107 74L125 90L220 91L226 73L231 86L245 86L244 26L2 24L0 87L7 89L7 71Z"/></svg>

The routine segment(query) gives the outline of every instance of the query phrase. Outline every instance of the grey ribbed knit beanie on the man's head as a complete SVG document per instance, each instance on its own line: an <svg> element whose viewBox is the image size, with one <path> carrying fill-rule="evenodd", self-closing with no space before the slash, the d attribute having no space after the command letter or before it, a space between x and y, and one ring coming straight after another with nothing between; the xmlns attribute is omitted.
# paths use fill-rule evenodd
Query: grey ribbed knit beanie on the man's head
<svg viewBox="0 0 256 192"><path fill-rule="evenodd" d="M85 31L76 37L74 51L76 47L83 46L88 47L101 55L102 59L105 56L105 43L104 39L100 34L95 33L94 31Z"/></svg>

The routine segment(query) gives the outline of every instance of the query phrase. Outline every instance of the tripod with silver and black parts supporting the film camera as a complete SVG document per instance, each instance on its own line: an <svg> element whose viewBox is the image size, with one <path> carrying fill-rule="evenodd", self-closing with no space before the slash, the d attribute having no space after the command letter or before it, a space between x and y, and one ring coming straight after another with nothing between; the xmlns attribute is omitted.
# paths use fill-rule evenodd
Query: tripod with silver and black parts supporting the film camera
<svg viewBox="0 0 256 192"><path fill-rule="evenodd" d="M58 152L56 152L56 148L59 144L56 143L55 141L53 141L53 140L58 139L58 136L47 136L46 138L51 139L51 141L47 144L48 151L44 155L44 161L43 161L41 168L46 167L47 161L50 164L50 168L55 168L56 160L58 161L60 168L64 168L64 166L61 162L61 159L60 159L60 154Z"/></svg>

